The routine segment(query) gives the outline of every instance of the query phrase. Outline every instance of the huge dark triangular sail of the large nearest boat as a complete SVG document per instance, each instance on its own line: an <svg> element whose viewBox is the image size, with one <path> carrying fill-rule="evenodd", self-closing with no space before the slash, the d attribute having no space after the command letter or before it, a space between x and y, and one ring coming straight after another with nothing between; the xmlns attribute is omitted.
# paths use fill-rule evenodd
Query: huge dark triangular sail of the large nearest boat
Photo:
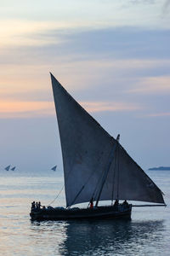
<svg viewBox="0 0 170 256"><path fill-rule="evenodd" d="M65 173L66 206L94 201L113 158L99 200L127 199L164 203L161 190L111 137L88 114L51 74L54 103L59 124Z"/></svg>

